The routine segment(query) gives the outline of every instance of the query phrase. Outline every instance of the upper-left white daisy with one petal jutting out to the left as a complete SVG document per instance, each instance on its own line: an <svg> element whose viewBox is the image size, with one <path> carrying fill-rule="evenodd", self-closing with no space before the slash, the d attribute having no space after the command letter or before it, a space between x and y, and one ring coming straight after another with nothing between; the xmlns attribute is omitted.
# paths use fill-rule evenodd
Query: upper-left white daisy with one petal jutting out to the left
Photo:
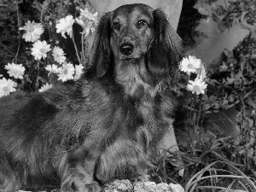
<svg viewBox="0 0 256 192"><path fill-rule="evenodd" d="M41 23L35 23L34 20L31 22L27 20L25 26L19 27L19 30L25 30L22 38L25 38L26 42L35 42L40 38L44 32L44 28Z"/></svg>

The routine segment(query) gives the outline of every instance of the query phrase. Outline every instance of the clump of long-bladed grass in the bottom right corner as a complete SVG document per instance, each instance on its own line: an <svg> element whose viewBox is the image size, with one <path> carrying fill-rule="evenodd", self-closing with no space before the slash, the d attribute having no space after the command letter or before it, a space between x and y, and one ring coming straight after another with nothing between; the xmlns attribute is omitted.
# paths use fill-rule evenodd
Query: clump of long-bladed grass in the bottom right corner
<svg viewBox="0 0 256 192"><path fill-rule="evenodd" d="M167 149L154 162L156 167L152 176L159 183L180 183L186 192L253 192L256 189L255 175L245 171L247 165L234 160L236 139L222 137L212 142L201 140L195 145L195 154L186 146L174 153ZM173 166L173 162L180 157L183 163ZM180 170L184 172L183 177L178 175Z"/></svg>

